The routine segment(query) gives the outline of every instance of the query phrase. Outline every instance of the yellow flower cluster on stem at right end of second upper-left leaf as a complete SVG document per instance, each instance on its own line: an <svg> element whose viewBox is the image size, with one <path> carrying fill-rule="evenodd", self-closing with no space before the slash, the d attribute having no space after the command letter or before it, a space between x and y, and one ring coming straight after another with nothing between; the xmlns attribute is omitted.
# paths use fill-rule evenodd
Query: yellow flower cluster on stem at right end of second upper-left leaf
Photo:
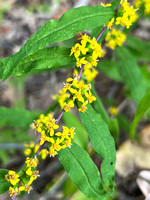
<svg viewBox="0 0 150 200"><path fill-rule="evenodd" d="M96 38L91 39L89 36L81 35L81 44L76 43L71 49L70 56L74 54L76 58L76 66L81 67L82 64L85 68L97 66L97 59L104 56L105 52L98 44Z"/></svg>

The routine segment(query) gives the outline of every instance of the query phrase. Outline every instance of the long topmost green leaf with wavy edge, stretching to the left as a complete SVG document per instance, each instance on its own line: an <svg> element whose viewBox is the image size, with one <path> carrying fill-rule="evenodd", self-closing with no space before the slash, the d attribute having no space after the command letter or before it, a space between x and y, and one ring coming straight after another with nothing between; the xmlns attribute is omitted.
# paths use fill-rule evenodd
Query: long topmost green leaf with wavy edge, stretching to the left
<svg viewBox="0 0 150 200"><path fill-rule="evenodd" d="M58 21L50 20L39 29L6 63L3 80L15 70L18 63L55 42L67 40L80 31L88 31L107 23L114 15L111 8L101 6L79 7L67 11ZM31 61L31 60L29 60Z"/></svg>

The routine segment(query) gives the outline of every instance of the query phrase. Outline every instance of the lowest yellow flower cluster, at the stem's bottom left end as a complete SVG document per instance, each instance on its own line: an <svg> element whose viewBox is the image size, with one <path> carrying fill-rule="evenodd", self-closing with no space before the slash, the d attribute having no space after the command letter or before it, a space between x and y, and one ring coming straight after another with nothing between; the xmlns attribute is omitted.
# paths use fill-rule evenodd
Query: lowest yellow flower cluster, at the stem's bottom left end
<svg viewBox="0 0 150 200"><path fill-rule="evenodd" d="M5 175L5 178L12 186L9 187L9 195L14 198L21 191L30 192L32 182L39 176L39 171L36 171L38 159L26 158L26 165L22 172L16 173L12 170Z"/></svg>

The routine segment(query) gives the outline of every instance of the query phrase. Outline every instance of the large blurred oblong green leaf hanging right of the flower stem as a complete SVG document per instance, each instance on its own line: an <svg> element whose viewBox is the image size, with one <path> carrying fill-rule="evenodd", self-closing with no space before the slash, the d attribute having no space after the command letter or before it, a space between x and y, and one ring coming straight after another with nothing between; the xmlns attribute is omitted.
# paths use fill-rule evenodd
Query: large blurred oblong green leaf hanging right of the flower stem
<svg viewBox="0 0 150 200"><path fill-rule="evenodd" d="M117 47L115 53L118 57L117 67L120 75L130 90L132 98L138 103L146 93L139 66L126 48Z"/></svg>

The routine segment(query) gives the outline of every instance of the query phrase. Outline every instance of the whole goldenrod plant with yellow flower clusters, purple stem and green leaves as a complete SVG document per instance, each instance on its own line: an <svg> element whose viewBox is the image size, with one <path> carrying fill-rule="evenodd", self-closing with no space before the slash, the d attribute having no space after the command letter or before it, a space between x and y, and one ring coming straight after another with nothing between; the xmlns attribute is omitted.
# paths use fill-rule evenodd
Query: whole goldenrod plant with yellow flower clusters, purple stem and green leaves
<svg viewBox="0 0 150 200"><path fill-rule="evenodd" d="M116 139L115 134L118 134L118 128L114 127L118 126L119 110L116 106L111 106L108 109L110 117L108 116L94 90L94 79L99 68L103 69L103 66L106 66L104 71L112 78L111 70L115 67L119 78L116 75L114 79L118 78L126 84L130 97L137 103L150 89L145 86L136 59L126 47L130 47L128 41L131 39L128 34L132 25L139 20L141 15L138 12L143 8L144 14L150 13L148 0L137 0L134 5L130 5L127 0L114 0L111 4L71 9L58 21L50 20L42 26L18 53L0 60L2 81L33 70L56 70L65 65L76 65L73 75L66 79L62 89L52 97L59 104L60 113L55 113L55 116L52 112L41 114L38 119L30 121L35 134L40 134L40 142L25 143L24 166L16 172L0 170L1 194L9 190L11 198L15 200L22 191L29 193L34 189L33 181L40 176L37 167L41 159L58 156L72 181L87 197L94 200L113 198L116 161L114 138ZM90 37L89 32L83 34L90 30L92 35L95 34L94 37ZM80 38L71 49L50 46L72 38L79 32L82 32ZM107 52L106 47L114 50L117 64L113 64L113 60L102 61ZM133 48L136 48L134 44ZM107 68L109 62L110 71ZM130 77L128 73L136 73L136 77ZM75 106L89 135L92 148L101 157L99 169L87 151L74 141L76 127L73 124L71 127L59 125L63 115L68 114Z"/></svg>

